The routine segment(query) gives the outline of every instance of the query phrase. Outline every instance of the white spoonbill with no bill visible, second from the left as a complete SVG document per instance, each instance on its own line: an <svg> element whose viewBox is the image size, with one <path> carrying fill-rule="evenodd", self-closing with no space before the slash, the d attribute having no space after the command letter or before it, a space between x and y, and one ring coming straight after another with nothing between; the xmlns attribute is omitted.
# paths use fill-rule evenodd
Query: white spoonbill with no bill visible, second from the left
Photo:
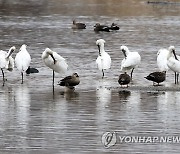
<svg viewBox="0 0 180 154"><path fill-rule="evenodd" d="M26 50L26 47L27 45L23 44L15 57L16 67L21 72L22 84L23 84L23 74L28 69L31 62L31 56Z"/></svg>

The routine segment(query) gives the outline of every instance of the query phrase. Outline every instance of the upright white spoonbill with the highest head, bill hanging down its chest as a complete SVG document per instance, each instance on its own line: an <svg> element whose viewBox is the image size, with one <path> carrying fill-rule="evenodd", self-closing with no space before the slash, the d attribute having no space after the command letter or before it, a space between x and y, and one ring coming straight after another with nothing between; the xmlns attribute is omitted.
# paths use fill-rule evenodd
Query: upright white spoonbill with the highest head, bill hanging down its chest
<svg viewBox="0 0 180 154"><path fill-rule="evenodd" d="M104 70L109 69L111 67L111 57L110 55L105 52L104 50L104 43L105 40L99 39L96 41L96 45L99 49L99 56L96 59L96 64L98 66L98 69L102 71L104 77Z"/></svg>

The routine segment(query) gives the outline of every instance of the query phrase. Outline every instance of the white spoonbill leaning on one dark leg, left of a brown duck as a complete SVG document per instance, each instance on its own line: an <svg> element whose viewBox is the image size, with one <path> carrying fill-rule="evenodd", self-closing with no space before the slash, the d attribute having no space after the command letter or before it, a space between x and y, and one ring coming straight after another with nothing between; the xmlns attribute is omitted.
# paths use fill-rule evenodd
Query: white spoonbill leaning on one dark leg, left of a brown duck
<svg viewBox="0 0 180 154"><path fill-rule="evenodd" d="M54 72L65 73L67 71L68 65L66 60L57 54L55 51L52 51L49 48L46 48L42 53L42 59L45 65L53 70L53 86L54 86Z"/></svg>

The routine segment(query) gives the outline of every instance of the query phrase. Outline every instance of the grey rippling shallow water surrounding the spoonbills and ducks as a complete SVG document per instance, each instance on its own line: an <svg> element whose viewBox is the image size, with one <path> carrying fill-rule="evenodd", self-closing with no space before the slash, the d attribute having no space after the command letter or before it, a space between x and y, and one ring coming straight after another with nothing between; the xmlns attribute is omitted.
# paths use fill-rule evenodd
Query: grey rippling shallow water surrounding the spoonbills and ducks
<svg viewBox="0 0 180 154"><path fill-rule="evenodd" d="M142 56L130 87L152 86L144 76L157 70L158 49L174 45L180 54L179 15L179 3L157 5L144 0L0 0L1 49L27 44L31 66L40 71L26 76L23 85L16 68L5 71L7 82L0 86L0 153L179 153L177 142L119 139L179 136L179 90L128 90L117 83L123 59L119 48L125 44ZM87 29L72 30L74 18L86 23ZM97 22L115 22L120 30L95 33ZM99 38L106 40L105 50L112 58L104 79L95 65ZM81 83L74 93L64 93L55 85L53 94L52 71L41 60L46 47L69 64L66 74L56 73L56 83L78 72ZM178 89L173 72L167 73L162 87ZM104 147L105 132L116 132L116 145Z"/></svg>

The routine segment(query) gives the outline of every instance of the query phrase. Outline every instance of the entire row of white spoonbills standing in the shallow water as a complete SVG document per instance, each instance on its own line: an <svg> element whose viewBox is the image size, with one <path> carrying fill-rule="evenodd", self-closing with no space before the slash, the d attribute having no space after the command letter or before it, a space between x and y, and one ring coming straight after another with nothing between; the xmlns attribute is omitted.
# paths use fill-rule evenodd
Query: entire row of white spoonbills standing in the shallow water
<svg viewBox="0 0 180 154"><path fill-rule="evenodd" d="M102 71L102 78L104 77L104 70L110 69L111 67L111 57L104 50L105 40L99 39L96 41L98 46L99 55L96 59L97 67ZM26 49L26 45L23 44L19 49L19 52L15 56L15 60L12 58L12 53L16 50L13 46L9 49L8 52L0 50L0 68L2 70L3 76L3 85L5 83L4 69L12 71L14 68L14 63L17 69L21 72L22 83L23 83L23 74L30 66L31 56ZM127 46L121 46L120 50L124 54L124 59L121 62L121 71L127 73L131 71L131 79L133 71L141 63L141 56L138 52L130 52ZM175 53L175 47L170 46L168 49L160 49L157 53L157 66L160 71L168 71L171 69L175 72L175 83L178 83L178 75L180 73L180 57ZM53 85L54 85L54 76L55 72L65 73L68 69L68 64L66 60L60 56L55 51L52 51L49 48L46 48L42 53L42 60L44 64L53 70Z"/></svg>

